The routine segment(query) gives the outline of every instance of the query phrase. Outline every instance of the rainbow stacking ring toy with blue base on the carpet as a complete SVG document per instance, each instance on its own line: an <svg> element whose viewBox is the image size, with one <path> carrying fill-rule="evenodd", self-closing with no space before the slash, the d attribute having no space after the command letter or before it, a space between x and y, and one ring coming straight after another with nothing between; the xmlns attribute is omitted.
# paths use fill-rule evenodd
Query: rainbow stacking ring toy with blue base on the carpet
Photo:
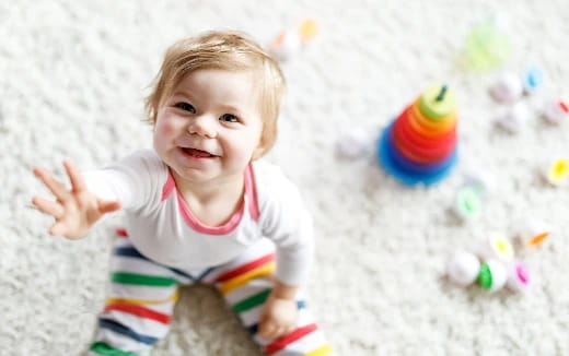
<svg viewBox="0 0 569 356"><path fill-rule="evenodd" d="M432 85L382 131L378 161L404 185L439 182L457 161L456 126L454 93Z"/></svg>

